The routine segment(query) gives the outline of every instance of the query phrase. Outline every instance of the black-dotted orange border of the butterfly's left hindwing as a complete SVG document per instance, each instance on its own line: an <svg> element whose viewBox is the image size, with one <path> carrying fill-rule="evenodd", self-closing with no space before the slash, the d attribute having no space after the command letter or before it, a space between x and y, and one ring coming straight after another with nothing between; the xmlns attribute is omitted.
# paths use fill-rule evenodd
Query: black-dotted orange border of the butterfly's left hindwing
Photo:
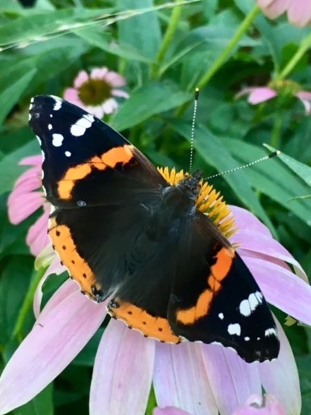
<svg viewBox="0 0 311 415"><path fill-rule="evenodd" d="M68 268L70 276L79 283L84 293L96 300L95 295L93 295L94 287L97 290L100 287L95 282L93 271L77 252L70 228L66 225L57 225L55 219L52 219L48 233L53 242L53 248L58 253L64 266Z"/></svg>

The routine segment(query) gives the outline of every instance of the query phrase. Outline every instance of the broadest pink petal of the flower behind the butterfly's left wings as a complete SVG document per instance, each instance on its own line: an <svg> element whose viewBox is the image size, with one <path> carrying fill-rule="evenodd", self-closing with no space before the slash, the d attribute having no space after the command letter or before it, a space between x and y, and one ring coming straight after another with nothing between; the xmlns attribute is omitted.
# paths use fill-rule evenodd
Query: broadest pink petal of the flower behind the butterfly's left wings
<svg viewBox="0 0 311 415"><path fill-rule="evenodd" d="M8 215L10 222L17 225L44 204L44 197L39 192L22 194L12 192L8 198Z"/></svg>

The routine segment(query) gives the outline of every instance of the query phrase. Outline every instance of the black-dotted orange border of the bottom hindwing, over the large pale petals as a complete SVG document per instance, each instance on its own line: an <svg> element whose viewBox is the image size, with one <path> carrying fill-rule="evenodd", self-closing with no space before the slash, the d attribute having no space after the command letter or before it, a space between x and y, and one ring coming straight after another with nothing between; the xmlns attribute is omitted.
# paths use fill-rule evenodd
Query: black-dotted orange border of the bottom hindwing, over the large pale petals
<svg viewBox="0 0 311 415"><path fill-rule="evenodd" d="M109 313L122 320L131 329L140 331L147 337L167 343L180 343L181 339L171 331L169 322L163 317L154 317L142 308L120 299L113 301L114 307L108 306Z"/></svg>

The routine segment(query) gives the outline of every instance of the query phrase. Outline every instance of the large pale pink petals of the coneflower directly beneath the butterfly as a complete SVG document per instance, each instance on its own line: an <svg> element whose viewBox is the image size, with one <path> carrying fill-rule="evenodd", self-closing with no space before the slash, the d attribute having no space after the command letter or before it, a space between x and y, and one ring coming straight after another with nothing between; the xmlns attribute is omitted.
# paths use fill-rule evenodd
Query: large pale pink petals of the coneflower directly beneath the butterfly
<svg viewBox="0 0 311 415"><path fill-rule="evenodd" d="M239 243L239 255L267 301L311 324L311 287L299 263L253 214L234 206L231 210L239 230L230 240ZM36 295L37 310L40 302ZM0 415L28 402L64 370L102 324L105 306L106 302L96 304L81 295L71 280L56 291L3 370ZM299 414L296 364L279 323L278 327L279 357L247 364L217 344L163 344L111 320L95 358L90 414L143 415L152 382L160 407L178 407L189 414L232 414L262 388L276 396L286 412Z"/></svg>

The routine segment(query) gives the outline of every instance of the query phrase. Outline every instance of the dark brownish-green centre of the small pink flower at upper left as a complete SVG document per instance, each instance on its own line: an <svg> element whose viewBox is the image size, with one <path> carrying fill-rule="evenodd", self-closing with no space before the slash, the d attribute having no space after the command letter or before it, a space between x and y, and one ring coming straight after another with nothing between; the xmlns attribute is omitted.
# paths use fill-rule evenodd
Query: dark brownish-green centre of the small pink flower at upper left
<svg viewBox="0 0 311 415"><path fill-rule="evenodd" d="M79 87L79 98L86 105L100 105L112 96L112 86L106 80L92 79Z"/></svg>

